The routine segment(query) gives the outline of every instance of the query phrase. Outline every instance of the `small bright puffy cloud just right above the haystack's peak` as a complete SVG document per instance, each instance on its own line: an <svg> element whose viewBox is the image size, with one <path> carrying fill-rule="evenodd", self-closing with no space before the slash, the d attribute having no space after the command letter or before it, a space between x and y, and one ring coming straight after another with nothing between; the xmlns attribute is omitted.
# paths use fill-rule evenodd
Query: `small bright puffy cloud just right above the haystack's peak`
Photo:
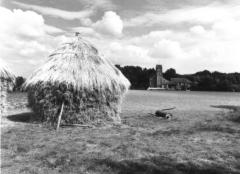
<svg viewBox="0 0 240 174"><path fill-rule="evenodd" d="M102 34L119 36L122 34L123 22L119 15L113 11L107 11L101 20L92 25L93 28Z"/></svg>

